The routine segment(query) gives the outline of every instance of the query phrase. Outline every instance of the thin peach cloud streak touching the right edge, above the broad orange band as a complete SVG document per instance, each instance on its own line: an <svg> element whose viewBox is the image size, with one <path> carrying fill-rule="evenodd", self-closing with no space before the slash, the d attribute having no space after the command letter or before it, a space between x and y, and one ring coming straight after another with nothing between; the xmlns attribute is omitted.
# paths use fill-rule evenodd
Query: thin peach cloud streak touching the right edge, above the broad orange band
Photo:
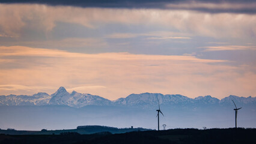
<svg viewBox="0 0 256 144"><path fill-rule="evenodd" d="M210 46L200 47L205 51L219 51L219 50L256 50L256 46Z"/></svg>

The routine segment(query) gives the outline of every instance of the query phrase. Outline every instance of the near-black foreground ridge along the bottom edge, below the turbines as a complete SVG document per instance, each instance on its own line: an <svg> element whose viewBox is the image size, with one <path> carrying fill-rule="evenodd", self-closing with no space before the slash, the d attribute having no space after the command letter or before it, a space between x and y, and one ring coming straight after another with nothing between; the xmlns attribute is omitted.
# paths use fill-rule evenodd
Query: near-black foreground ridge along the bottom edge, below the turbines
<svg viewBox="0 0 256 144"><path fill-rule="evenodd" d="M51 135L0 134L0 143L256 143L256 128L173 129L163 131L133 131L130 133L79 134L75 132Z"/></svg>

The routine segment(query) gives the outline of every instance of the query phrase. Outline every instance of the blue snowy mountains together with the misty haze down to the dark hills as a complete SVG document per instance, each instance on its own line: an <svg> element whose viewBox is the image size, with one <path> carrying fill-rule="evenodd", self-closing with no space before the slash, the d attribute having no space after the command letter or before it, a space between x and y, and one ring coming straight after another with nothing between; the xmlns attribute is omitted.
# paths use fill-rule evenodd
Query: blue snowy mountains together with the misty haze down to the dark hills
<svg viewBox="0 0 256 144"><path fill-rule="evenodd" d="M16 130L62 130L78 125L157 128L157 98L166 128L234 127L234 104L239 127L256 127L256 97L189 98L178 94L142 93L111 101L106 98L67 92L64 87L49 95L1 95L0 128ZM161 126L162 128L162 126Z"/></svg>

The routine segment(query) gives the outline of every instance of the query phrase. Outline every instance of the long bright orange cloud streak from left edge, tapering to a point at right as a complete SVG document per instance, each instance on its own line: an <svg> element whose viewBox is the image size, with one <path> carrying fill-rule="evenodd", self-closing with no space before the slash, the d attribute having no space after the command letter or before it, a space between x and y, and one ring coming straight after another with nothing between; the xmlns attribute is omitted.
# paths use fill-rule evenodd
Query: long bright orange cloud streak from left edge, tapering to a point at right
<svg viewBox="0 0 256 144"><path fill-rule="evenodd" d="M212 59L199 59L195 56L178 56L178 55L133 55L130 53L71 53L64 50L51 50L51 49L35 49L24 46L0 46L0 56L37 56L37 57L62 57L62 58L98 58L98 59L113 59L113 60L166 60L166 61L190 61L190 62L227 62L224 60Z"/></svg>

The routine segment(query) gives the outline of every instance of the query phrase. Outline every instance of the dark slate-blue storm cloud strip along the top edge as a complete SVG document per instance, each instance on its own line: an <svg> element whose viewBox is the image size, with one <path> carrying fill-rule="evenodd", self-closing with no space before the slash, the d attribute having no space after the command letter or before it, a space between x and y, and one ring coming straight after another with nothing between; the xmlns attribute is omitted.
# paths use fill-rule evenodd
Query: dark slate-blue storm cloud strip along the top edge
<svg viewBox="0 0 256 144"><path fill-rule="evenodd" d="M256 13L256 2L254 0L0 0L0 2L4 4L47 4L101 8L160 8L172 10L195 10L207 13Z"/></svg>

